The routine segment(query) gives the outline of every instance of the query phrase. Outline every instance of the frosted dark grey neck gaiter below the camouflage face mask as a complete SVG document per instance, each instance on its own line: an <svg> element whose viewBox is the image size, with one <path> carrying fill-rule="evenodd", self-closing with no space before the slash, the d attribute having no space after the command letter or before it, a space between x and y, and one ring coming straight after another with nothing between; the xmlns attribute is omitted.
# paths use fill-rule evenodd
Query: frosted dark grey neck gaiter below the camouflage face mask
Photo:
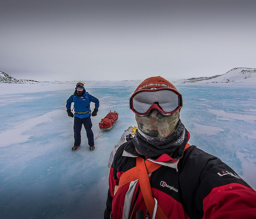
<svg viewBox="0 0 256 219"><path fill-rule="evenodd" d="M188 131L179 120L175 131L167 138L151 137L139 129L136 130L133 144L137 151L146 157L153 158L167 154L173 159L179 159L183 156L188 140Z"/></svg>

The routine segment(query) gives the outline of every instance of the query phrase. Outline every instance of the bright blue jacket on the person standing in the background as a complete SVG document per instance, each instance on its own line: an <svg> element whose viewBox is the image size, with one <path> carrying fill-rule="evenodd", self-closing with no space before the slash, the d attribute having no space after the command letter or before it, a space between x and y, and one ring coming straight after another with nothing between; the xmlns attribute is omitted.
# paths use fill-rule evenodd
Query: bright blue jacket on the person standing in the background
<svg viewBox="0 0 256 219"><path fill-rule="evenodd" d="M84 89L84 87L82 87L82 89ZM81 97L76 95L76 90L75 90L74 94L67 99L67 104L66 104L67 109L71 109L72 102L74 102L75 116L78 118L86 118L90 116L90 113L91 113L90 102L95 103L95 109L99 108L99 100L96 97L93 97L92 95L90 95L88 92L86 92L85 89L84 89L84 95ZM76 112L86 112L86 113L79 114Z"/></svg>

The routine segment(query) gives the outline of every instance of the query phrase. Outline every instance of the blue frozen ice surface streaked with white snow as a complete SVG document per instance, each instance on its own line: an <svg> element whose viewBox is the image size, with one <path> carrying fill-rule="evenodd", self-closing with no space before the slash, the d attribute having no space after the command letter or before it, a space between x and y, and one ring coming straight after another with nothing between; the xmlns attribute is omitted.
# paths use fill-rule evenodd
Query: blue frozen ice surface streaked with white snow
<svg viewBox="0 0 256 219"><path fill-rule="evenodd" d="M108 192L108 160L129 126L135 126L129 97L140 82L85 83L99 98L92 117L99 121L119 113L110 131L72 151L73 118L65 104L76 82L0 84L0 212L1 218L103 218ZM218 156L256 189L255 86L177 86L183 95L180 118L190 144ZM94 104L91 104L91 109Z"/></svg>

